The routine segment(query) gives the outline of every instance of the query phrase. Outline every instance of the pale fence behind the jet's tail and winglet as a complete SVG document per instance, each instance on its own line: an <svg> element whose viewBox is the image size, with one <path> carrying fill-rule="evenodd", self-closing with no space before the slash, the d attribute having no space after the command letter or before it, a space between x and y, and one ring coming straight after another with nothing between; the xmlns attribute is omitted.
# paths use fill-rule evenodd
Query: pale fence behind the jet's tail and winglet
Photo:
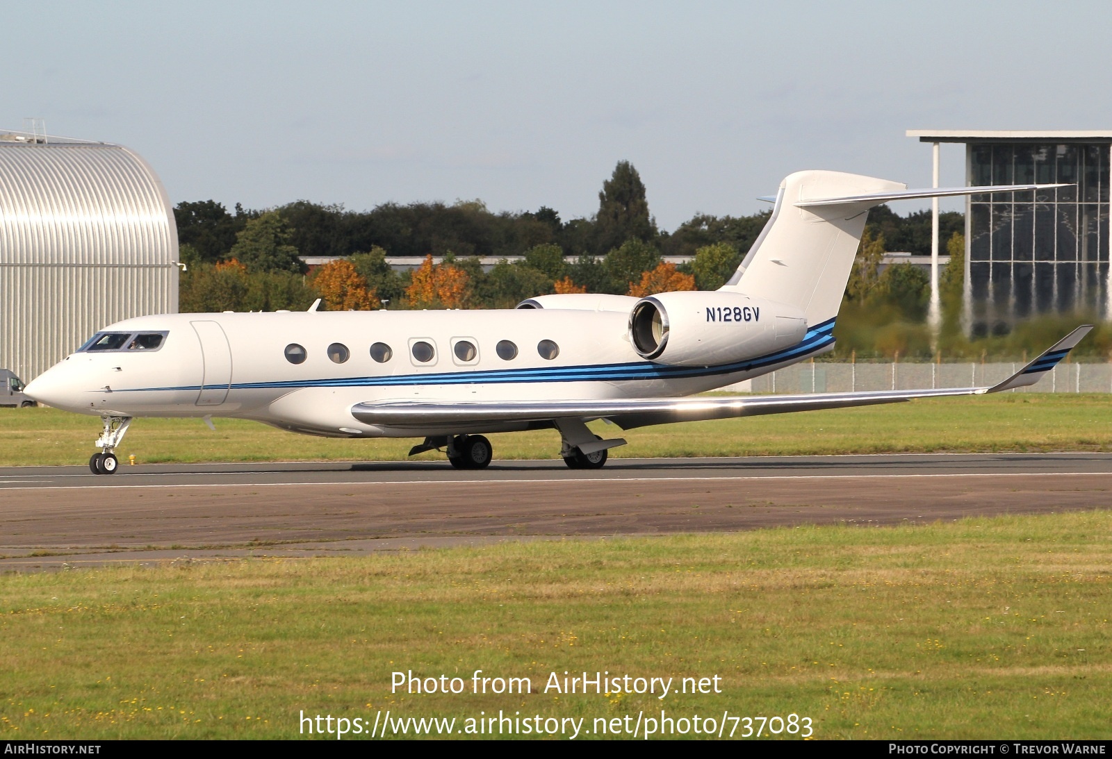
<svg viewBox="0 0 1112 759"><path fill-rule="evenodd" d="M1015 363L797 363L722 388L735 392L853 392L985 387L1023 368ZM1012 392L1112 392L1112 363L1060 363Z"/></svg>

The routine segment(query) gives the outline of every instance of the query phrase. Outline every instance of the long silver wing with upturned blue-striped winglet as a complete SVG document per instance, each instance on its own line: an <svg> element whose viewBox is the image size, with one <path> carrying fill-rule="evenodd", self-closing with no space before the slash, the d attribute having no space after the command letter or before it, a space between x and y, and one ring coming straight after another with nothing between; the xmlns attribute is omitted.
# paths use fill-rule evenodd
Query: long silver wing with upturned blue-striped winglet
<svg viewBox="0 0 1112 759"><path fill-rule="evenodd" d="M1037 358L992 387L876 392L813 392L777 396L631 398L604 400L530 400L490 402L391 401L357 403L351 416L368 425L443 428L454 423L608 419L622 429L678 421L703 421L790 413L853 406L896 403L915 398L980 396L1034 385L1065 358L1092 329L1084 324L1043 351Z"/></svg>

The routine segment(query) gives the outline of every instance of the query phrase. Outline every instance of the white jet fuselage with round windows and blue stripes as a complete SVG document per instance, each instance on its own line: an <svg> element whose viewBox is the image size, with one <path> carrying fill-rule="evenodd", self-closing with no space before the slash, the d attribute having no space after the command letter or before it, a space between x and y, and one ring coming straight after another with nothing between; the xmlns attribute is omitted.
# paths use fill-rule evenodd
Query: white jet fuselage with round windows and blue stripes
<svg viewBox="0 0 1112 759"><path fill-rule="evenodd" d="M436 431L367 425L351 416L356 403L687 396L794 363L833 343L828 330L808 332L794 349L755 361L666 366L634 350L628 312L564 309L177 313L128 319L103 331L166 336L157 350L75 352L34 380L34 396L96 416L238 417L329 437L527 427L457 425ZM469 360L455 351L460 340L475 347ZM415 358L418 341L431 346L431 360ZM516 356L499 357L503 341L514 343ZM558 353L544 358L542 341L555 343ZM330 351L337 343L349 354L342 362L329 358L342 353ZM389 346L389 360L371 357L374 343ZM302 362L287 360L291 344L304 348Z"/></svg>

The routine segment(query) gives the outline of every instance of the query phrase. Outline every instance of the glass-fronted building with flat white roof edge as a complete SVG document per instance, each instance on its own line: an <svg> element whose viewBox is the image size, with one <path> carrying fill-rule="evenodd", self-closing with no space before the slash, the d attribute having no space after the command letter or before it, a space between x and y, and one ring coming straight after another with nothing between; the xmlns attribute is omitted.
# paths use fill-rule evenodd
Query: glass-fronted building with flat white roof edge
<svg viewBox="0 0 1112 759"><path fill-rule="evenodd" d="M1002 334L1037 313L1112 318L1112 131L907 133L923 142L964 143L966 186L1070 184L966 200L965 317L971 334Z"/></svg>

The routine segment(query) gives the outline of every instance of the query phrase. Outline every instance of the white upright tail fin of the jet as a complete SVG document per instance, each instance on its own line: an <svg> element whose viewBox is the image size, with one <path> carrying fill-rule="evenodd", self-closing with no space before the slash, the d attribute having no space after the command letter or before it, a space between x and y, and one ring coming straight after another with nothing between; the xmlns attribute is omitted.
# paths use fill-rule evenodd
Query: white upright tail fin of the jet
<svg viewBox="0 0 1112 759"><path fill-rule="evenodd" d="M722 289L795 306L810 326L833 319L850 280L868 209L877 202L871 197L857 198L906 188L838 171L791 174L780 184L768 223ZM845 198L847 202L796 206L822 198Z"/></svg>

